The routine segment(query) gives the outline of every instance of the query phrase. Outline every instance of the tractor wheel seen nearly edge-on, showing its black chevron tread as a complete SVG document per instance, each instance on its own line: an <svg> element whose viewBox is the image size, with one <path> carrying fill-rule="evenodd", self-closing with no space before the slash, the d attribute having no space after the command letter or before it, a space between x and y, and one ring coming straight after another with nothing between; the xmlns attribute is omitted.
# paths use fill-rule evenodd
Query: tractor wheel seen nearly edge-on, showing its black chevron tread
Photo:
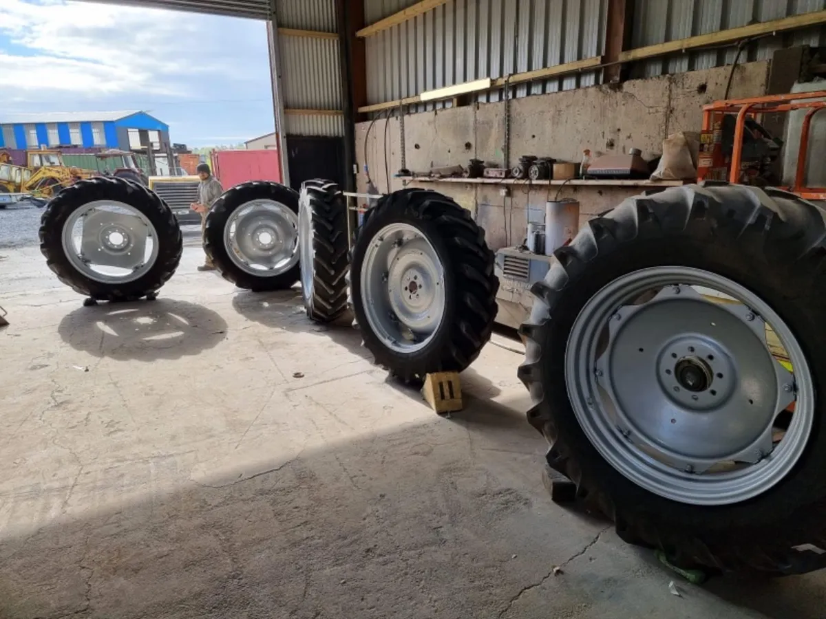
<svg viewBox="0 0 826 619"><path fill-rule="evenodd" d="M307 316L329 323L347 310L347 205L335 182L301 185L298 228L301 289Z"/></svg>

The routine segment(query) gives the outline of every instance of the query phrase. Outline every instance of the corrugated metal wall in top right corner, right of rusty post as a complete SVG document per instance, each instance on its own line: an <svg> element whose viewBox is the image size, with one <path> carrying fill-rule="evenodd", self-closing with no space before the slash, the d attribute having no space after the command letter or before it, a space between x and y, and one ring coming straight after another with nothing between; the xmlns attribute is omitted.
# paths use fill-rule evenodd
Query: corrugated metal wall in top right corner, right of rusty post
<svg viewBox="0 0 826 619"><path fill-rule="evenodd" d="M688 36L705 35L746 26L753 21L771 21L826 9L826 0L634 0L634 47L655 45ZM826 31L806 31L767 36L749 44L741 62L771 59L781 47L824 45ZM710 69L731 64L737 50L727 47L652 59L634 66L634 77L651 77Z"/></svg>

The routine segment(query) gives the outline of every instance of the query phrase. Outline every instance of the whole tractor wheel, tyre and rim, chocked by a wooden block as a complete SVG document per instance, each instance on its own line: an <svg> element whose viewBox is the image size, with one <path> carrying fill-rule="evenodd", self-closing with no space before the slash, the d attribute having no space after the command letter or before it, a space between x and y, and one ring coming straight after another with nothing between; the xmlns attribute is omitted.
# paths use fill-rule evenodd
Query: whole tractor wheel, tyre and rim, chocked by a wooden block
<svg viewBox="0 0 826 619"><path fill-rule="evenodd" d="M358 230L350 270L364 346L402 380L464 370L491 337L493 264L484 231L449 197L383 197Z"/></svg>

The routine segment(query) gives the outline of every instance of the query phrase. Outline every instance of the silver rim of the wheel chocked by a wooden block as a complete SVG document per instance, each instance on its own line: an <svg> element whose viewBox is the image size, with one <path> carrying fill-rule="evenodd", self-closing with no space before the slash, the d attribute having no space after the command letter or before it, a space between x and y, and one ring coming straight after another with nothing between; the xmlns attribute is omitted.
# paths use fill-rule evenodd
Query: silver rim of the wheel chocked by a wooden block
<svg viewBox="0 0 826 619"><path fill-rule="evenodd" d="M424 348L444 319L444 267L411 224L387 225L370 239L361 291L370 328L394 352Z"/></svg>

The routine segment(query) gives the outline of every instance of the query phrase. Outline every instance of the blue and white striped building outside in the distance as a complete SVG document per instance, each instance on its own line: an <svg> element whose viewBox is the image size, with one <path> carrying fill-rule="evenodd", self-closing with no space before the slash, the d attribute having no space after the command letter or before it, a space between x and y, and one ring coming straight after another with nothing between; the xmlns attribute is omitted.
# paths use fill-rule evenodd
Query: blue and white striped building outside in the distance
<svg viewBox="0 0 826 619"><path fill-rule="evenodd" d="M166 152L169 125L145 111L0 113L0 148L39 149L74 146L84 149Z"/></svg>

